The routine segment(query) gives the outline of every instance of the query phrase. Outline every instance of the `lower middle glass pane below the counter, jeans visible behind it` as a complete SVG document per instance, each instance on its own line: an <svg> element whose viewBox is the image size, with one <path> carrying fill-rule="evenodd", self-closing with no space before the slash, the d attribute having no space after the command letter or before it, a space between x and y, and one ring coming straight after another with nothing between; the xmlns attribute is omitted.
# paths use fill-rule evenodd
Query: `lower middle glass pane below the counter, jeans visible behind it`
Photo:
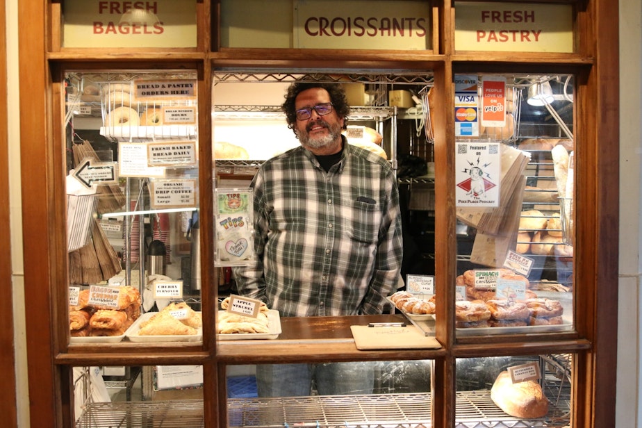
<svg viewBox="0 0 642 428"><path fill-rule="evenodd" d="M257 378L266 366L228 366L228 418L231 427L302 425L316 426L396 426L412 424L431 426L431 361L372 361L299 365L305 376L297 386L274 397L262 395ZM291 365L276 365L281 374L292 372ZM323 390L318 382L336 370L344 370L359 383L369 386L359 390ZM356 372L353 370L356 369ZM270 370L271 373L274 373ZM367 376L363 376L367 374ZM309 375L309 376L308 376ZM303 381L306 379L306 381ZM314 380L311 380L314 379ZM344 379L345 380L345 379ZM334 383L334 382L333 382ZM340 382L345 385L345 382ZM261 381L258 384L262 385ZM326 394L323 394L325 392ZM328 394L334 392L336 394Z"/></svg>

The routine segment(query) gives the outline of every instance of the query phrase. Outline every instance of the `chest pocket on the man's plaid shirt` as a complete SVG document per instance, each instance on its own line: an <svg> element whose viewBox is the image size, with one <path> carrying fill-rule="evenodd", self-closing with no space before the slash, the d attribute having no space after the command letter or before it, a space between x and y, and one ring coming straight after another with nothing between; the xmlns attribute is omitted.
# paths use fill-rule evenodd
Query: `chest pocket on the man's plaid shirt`
<svg viewBox="0 0 642 428"><path fill-rule="evenodd" d="M341 202L341 212L338 215L343 218L343 231L347 236L366 245L375 244L381 224L379 203L374 199L364 197L352 200L343 199Z"/></svg>

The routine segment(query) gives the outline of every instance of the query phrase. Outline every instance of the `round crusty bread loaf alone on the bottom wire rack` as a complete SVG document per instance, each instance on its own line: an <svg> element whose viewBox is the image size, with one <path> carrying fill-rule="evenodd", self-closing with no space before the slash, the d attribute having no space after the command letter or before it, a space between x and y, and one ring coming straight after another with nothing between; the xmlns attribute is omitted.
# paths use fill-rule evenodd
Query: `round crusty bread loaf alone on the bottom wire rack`
<svg viewBox="0 0 642 428"><path fill-rule="evenodd" d="M515 418L542 418L548 413L548 399L536 381L513 384L509 372L501 372L491 388L491 399L505 413Z"/></svg>

